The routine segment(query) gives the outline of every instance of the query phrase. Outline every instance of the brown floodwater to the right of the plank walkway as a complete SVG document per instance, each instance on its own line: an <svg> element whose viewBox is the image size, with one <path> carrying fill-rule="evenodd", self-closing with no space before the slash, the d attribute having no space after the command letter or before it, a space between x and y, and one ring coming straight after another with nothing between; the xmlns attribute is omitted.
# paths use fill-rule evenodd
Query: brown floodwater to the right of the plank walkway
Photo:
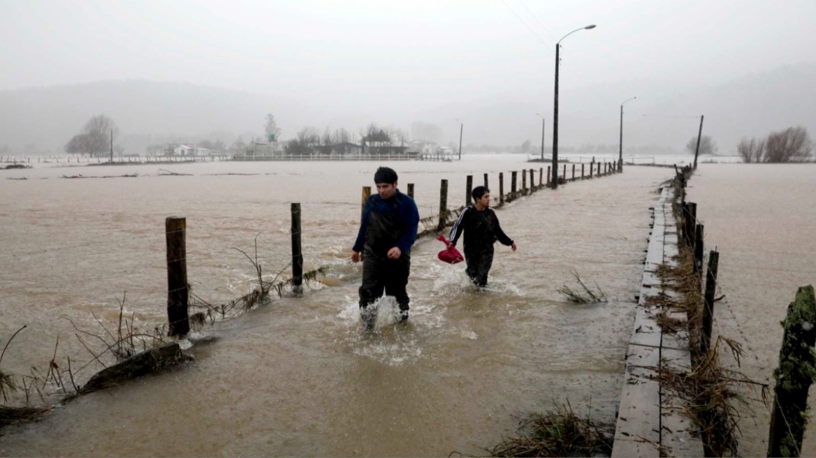
<svg viewBox="0 0 816 458"><path fill-rule="evenodd" d="M816 284L816 165L700 165L687 200L697 202L706 253L717 249L714 332L743 346L742 371L774 385L787 305L796 288ZM756 390L741 390L750 408L739 427L742 456L768 451L769 406ZM814 412L814 390L809 395ZM771 398L773 399L773 397ZM805 432L800 456L816 456L816 431Z"/></svg>

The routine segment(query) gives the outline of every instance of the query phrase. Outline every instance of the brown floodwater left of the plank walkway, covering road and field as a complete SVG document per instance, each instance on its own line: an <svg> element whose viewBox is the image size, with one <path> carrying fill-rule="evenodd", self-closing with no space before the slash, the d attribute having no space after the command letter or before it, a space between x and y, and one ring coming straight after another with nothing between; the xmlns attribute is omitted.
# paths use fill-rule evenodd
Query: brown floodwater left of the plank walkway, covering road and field
<svg viewBox="0 0 816 458"><path fill-rule="evenodd" d="M462 265L437 260L441 243L420 240L411 253L409 324L393 326L394 304L384 300L377 332L366 334L357 312L361 269L348 258L360 189L372 184L377 165L7 171L29 179L0 180L2 342L28 328L3 359L5 372L47 368L58 337L62 368L69 356L73 368L90 361L69 319L101 334L94 315L114 326L124 292L137 327L162 326L167 216L187 218L188 280L208 302L250 291L253 268L233 248L252 253L259 232L268 279L287 265L290 202L303 206L307 269L329 271L303 297L207 326L201 334L217 340L193 346L194 363L3 430L0 456L448 456L483 453L553 402L569 400L582 415L614 422L648 208L672 170L628 167L499 209L518 251L497 247L484 292L468 284ZM498 172L509 187L508 172L529 166L507 156L390 165L401 189L415 183L423 217L438 209L441 178L450 180L454 205L464 200L467 174L481 183L490 173L498 195ZM157 176L159 168L192 176ZM126 173L141 176L60 178ZM610 302L564 302L557 289L574 286L573 270ZM78 384L99 369L82 369Z"/></svg>

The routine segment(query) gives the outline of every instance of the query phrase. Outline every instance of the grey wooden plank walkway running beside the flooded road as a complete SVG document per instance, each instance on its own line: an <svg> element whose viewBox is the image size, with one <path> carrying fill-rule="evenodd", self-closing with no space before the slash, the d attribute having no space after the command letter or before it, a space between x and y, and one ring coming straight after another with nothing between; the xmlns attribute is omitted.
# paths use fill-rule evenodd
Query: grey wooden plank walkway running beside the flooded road
<svg viewBox="0 0 816 458"><path fill-rule="evenodd" d="M686 332L663 334L656 321L663 310L650 297L676 296L657 275L661 264L676 265L679 253L672 190L664 187L654 205L654 224L643 268L641 295L626 352L623 390L615 426L613 457L703 456L703 442L693 437L691 420L683 415L684 400L657 381L659 368L689 371ZM685 320L680 310L665 310Z"/></svg>

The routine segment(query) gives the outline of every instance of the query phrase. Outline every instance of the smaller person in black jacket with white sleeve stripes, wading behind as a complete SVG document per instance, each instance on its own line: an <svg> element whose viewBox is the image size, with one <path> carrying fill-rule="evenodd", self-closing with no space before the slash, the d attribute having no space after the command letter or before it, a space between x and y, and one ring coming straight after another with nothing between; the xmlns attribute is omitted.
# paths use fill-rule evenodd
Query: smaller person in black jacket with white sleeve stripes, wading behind
<svg viewBox="0 0 816 458"><path fill-rule="evenodd" d="M450 244L448 248L456 246L456 240L464 231L464 259L468 267L470 280L480 288L487 286L487 274L493 264L493 244L499 240L501 244L516 251L516 242L512 241L499 226L499 217L490 208L490 189L477 186L471 192L474 205L464 209L454 227L450 229Z"/></svg>

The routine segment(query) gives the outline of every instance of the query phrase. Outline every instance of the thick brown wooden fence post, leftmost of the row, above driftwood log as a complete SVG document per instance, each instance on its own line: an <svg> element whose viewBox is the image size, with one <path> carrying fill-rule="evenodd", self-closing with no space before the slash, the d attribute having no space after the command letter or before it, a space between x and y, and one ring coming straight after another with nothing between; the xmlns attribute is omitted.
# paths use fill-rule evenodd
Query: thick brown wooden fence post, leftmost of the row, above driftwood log
<svg viewBox="0 0 816 458"><path fill-rule="evenodd" d="M190 332L187 312L187 218L168 216L164 220L167 240L167 321L168 336Z"/></svg>

